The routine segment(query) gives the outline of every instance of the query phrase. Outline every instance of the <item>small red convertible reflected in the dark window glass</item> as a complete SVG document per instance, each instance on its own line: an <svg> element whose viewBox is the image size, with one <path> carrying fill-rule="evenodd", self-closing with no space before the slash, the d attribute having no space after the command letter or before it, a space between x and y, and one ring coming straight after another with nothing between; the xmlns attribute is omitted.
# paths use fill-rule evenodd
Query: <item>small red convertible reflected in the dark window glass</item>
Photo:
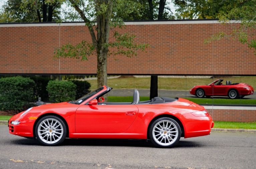
<svg viewBox="0 0 256 169"><path fill-rule="evenodd" d="M245 83L231 83L226 81L226 85L222 84L222 79L218 79L209 85L194 86L190 89L190 94L197 97L210 96L228 96L231 99L243 98L244 96L252 95L254 90L252 86Z"/></svg>

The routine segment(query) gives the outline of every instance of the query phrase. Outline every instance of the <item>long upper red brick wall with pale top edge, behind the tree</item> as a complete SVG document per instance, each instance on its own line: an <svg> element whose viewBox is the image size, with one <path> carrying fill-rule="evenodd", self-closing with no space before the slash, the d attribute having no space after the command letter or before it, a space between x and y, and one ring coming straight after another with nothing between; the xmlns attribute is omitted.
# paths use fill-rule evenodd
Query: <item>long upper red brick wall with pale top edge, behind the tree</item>
<svg viewBox="0 0 256 169"><path fill-rule="evenodd" d="M115 30L134 34L150 47L132 58L109 56L108 74L256 74L256 57L246 44L233 39L204 44L214 33L230 31L217 21L125 24L126 29ZM65 43L91 41L83 23L0 24L0 37L0 74L96 74L96 56L53 59L54 50Z"/></svg>

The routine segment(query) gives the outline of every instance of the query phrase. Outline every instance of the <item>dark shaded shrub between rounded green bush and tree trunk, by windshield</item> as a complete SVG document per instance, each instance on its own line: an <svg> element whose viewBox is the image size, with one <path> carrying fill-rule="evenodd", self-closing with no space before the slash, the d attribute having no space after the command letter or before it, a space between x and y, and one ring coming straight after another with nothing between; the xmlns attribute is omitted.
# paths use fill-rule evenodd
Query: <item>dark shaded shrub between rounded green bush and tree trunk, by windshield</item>
<svg viewBox="0 0 256 169"><path fill-rule="evenodd" d="M89 88L91 84L87 81L80 81L80 80L71 80L76 85L76 95L75 99L79 99L80 97L90 93Z"/></svg>

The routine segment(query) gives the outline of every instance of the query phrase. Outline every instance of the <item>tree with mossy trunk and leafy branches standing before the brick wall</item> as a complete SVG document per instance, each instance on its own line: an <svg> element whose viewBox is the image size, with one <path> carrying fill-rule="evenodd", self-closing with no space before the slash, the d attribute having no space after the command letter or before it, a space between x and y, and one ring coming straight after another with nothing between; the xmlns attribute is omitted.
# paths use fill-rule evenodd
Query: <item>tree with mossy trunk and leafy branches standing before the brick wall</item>
<svg viewBox="0 0 256 169"><path fill-rule="evenodd" d="M45 0L48 5L58 2L57 0ZM85 22L92 41L63 45L55 51L55 57L87 60L87 57L91 55L97 56L98 87L107 85L107 56L122 54L131 57L136 55L138 50L144 50L147 47L144 43L137 44L134 41L134 35L119 34L114 29L112 31L114 31L115 41L109 42L110 28L124 27L122 19L115 14L117 11L122 11L124 14L136 12L135 2L130 0L67 0L65 2L77 12L77 15L73 17L79 16Z"/></svg>

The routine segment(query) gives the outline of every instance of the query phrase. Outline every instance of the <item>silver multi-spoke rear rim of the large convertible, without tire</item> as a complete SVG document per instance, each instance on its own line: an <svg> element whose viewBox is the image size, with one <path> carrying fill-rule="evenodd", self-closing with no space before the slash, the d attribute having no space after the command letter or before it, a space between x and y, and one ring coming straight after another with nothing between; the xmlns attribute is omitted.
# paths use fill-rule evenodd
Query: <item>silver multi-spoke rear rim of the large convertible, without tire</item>
<svg viewBox="0 0 256 169"><path fill-rule="evenodd" d="M159 145L172 145L178 138L178 128L170 120L161 120L155 124L152 131L152 136L155 142Z"/></svg>

